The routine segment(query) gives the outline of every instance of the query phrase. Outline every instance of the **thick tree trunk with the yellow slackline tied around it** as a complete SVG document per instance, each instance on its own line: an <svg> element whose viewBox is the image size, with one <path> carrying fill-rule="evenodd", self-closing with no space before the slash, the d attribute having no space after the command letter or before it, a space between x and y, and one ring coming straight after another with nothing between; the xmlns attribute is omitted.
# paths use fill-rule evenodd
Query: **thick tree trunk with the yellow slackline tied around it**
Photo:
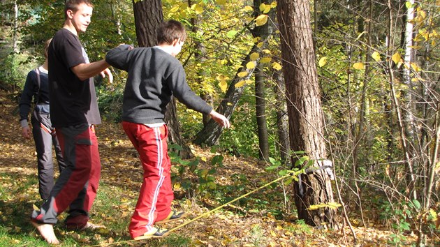
<svg viewBox="0 0 440 247"><path fill-rule="evenodd" d="M336 227L331 207L309 210L311 205L334 202L330 172L320 167L327 158L323 112L310 27L309 1L278 1L281 54L288 96L289 136L293 151L305 151L318 170L300 175L295 183L298 217L309 225ZM292 158L295 163L294 158Z"/></svg>

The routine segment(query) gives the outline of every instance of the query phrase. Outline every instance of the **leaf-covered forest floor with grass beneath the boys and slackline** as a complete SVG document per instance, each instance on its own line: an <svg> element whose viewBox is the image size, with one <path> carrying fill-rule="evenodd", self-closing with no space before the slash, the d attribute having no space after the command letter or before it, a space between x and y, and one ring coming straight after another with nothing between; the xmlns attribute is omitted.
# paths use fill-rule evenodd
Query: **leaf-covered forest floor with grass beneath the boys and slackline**
<svg viewBox="0 0 440 247"><path fill-rule="evenodd" d="M0 91L0 246L45 246L29 224L31 210L41 205L34 141L22 138L18 116L12 114L17 103L11 98L10 94ZM90 213L93 223L106 225L107 229L68 232L58 223L55 233L61 246L388 246L393 239L393 232L368 214L364 215L364 223L353 214L353 231L358 244L353 241L349 227L340 230L309 227L296 219L293 202L284 202L283 191L288 194L291 187L280 184L179 227L226 202L223 201L226 195L222 193L238 197L277 178L277 174L265 171L266 164L254 158L221 154L223 165L212 174L217 186L222 188L219 193L215 193L215 189L210 193L184 189L184 183L179 183L184 178L177 179L174 206L188 212L189 217L164 225L168 229L179 227L168 237L131 241L127 226L137 200L142 168L119 124L105 122L96 129L102 174ZM210 160L219 155L197 147L193 147L193 152L201 160L200 167L209 167ZM185 176L197 182L190 172L184 173ZM65 213L59 219L64 217ZM403 245L416 242L413 234L405 238Z"/></svg>

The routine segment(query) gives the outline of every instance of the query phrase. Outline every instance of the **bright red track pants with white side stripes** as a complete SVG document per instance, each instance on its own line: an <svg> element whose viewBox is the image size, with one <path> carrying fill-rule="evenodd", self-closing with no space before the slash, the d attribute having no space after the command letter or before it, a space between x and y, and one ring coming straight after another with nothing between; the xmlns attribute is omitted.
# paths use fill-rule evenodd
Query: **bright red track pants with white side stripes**
<svg viewBox="0 0 440 247"><path fill-rule="evenodd" d="M138 203L131 217L129 231L132 238L152 229L156 221L171 212L174 199L171 187L171 163L168 157L168 128L149 128L141 123L122 122L126 135L139 153L144 169Z"/></svg>

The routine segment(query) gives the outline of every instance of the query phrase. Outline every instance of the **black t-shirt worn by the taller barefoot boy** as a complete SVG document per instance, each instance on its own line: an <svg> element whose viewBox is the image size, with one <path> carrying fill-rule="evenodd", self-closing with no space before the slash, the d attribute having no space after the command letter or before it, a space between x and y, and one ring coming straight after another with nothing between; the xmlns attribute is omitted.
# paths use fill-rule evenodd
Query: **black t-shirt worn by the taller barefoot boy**
<svg viewBox="0 0 440 247"><path fill-rule="evenodd" d="M101 123L93 78L80 80L71 70L89 59L78 36L67 29L55 33L47 50L50 115L54 127Z"/></svg>

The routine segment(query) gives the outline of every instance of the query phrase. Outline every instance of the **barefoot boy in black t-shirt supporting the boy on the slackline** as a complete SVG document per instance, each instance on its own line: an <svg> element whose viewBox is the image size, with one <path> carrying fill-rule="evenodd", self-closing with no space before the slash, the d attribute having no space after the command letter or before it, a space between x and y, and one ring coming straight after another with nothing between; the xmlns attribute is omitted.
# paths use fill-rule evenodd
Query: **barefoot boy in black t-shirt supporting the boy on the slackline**
<svg viewBox="0 0 440 247"><path fill-rule="evenodd" d="M31 214L31 223L49 244L59 244L53 225L67 208L67 230L103 227L89 223L89 211L101 177L94 126L101 123L93 76L112 73L105 60L89 63L79 34L91 22L93 5L89 0L65 3L64 27L49 45L50 116L57 128L66 168L61 172L49 199Z"/></svg>

